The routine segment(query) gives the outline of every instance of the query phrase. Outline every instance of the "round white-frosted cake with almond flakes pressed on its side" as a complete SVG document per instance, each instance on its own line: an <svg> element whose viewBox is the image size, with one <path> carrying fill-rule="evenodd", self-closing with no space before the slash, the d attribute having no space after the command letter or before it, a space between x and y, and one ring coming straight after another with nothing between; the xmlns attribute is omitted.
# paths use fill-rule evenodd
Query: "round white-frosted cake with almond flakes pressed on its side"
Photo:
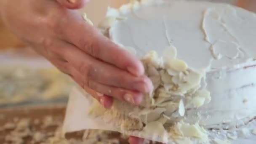
<svg viewBox="0 0 256 144"><path fill-rule="evenodd" d="M181 144L209 143L208 130L247 125L256 117L255 26L255 13L222 3L133 0L109 8L99 29L141 59L154 90L138 107L94 101L89 119Z"/></svg>

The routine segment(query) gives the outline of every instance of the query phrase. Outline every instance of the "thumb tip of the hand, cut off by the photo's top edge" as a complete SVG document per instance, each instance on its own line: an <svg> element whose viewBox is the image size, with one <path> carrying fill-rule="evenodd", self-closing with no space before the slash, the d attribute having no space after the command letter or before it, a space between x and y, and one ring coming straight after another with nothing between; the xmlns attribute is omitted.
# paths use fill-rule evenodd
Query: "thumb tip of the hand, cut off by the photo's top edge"
<svg viewBox="0 0 256 144"><path fill-rule="evenodd" d="M78 9L85 6L89 0L57 0L58 3L69 9Z"/></svg>

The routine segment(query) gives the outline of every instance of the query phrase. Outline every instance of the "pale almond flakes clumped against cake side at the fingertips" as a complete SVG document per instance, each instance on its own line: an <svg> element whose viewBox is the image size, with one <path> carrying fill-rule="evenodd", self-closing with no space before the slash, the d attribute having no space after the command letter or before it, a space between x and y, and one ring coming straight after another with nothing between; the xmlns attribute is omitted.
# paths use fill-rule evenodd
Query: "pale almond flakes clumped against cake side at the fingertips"
<svg viewBox="0 0 256 144"><path fill-rule="evenodd" d="M210 92L200 89L204 74L189 69L186 62L177 59L176 48L170 46L164 53L168 56L159 57L151 51L141 59L154 90L144 96L139 107L115 100L111 109L104 109L95 101L89 115L102 116L105 123L115 120L115 126L124 133L143 131L147 135L162 136L163 141L168 141L168 137L208 141L206 131L197 123L183 122L186 109L198 108L211 101ZM190 135L191 131L197 135Z"/></svg>

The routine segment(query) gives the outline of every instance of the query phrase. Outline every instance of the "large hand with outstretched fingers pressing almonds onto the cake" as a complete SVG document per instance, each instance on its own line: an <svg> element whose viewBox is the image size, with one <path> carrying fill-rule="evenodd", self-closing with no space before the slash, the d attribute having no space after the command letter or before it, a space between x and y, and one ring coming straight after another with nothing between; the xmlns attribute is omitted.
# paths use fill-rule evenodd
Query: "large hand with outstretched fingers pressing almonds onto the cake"
<svg viewBox="0 0 256 144"><path fill-rule="evenodd" d="M111 107L112 98L140 104L142 93L152 89L143 65L72 10L85 3L0 0L0 14L13 33L71 76L104 107Z"/></svg>

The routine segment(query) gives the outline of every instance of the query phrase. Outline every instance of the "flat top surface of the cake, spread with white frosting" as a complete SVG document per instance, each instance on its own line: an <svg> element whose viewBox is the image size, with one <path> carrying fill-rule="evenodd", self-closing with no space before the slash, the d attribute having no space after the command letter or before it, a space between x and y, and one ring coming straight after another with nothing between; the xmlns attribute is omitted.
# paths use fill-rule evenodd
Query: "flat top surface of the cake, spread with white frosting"
<svg viewBox="0 0 256 144"><path fill-rule="evenodd" d="M109 37L139 57L151 50L161 55L171 45L195 69L237 67L256 58L256 14L232 5L141 0L109 9L107 16L124 18Z"/></svg>

